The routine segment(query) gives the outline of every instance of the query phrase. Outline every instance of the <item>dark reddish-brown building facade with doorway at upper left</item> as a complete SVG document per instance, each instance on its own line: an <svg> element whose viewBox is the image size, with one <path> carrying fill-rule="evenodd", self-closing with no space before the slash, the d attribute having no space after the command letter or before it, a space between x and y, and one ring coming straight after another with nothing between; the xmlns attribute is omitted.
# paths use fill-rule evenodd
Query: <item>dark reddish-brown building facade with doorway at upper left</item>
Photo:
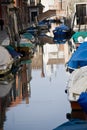
<svg viewBox="0 0 87 130"><path fill-rule="evenodd" d="M44 8L40 0L0 0L0 18L4 19L5 24L7 24L7 7L12 6L12 4L18 9L21 17L21 21L19 21L24 27L34 23L36 17L43 12Z"/></svg>

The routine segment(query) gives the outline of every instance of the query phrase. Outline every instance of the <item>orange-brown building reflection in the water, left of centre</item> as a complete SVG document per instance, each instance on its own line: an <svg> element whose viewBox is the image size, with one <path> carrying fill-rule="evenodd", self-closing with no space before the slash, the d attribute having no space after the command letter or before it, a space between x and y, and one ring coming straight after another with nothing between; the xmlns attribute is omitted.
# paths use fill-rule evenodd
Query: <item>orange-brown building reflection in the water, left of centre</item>
<svg viewBox="0 0 87 130"><path fill-rule="evenodd" d="M11 106L16 106L21 103L22 100L29 103L29 97L31 95L30 80L31 80L31 66L30 64L23 64L22 68L15 75L15 85L11 92Z"/></svg>

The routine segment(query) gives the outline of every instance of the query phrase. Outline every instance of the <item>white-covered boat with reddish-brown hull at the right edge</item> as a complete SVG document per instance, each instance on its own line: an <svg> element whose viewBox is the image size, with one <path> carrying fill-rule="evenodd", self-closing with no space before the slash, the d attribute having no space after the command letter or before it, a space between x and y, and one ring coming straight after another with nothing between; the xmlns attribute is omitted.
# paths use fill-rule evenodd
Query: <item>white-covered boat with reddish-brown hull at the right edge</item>
<svg viewBox="0 0 87 130"><path fill-rule="evenodd" d="M76 69L72 72L68 84L67 95L72 110L83 109L87 112L87 66ZM83 105L81 105L83 103Z"/></svg>

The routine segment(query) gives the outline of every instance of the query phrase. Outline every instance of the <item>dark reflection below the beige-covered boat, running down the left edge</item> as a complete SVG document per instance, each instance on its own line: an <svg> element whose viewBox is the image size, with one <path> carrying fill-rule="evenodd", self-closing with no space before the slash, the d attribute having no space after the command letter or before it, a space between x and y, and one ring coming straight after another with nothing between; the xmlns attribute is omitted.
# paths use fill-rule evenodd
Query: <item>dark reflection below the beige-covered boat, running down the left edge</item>
<svg viewBox="0 0 87 130"><path fill-rule="evenodd" d="M12 73L0 78L0 130L3 130L6 121L6 108L10 105L10 91L14 86L15 80Z"/></svg>

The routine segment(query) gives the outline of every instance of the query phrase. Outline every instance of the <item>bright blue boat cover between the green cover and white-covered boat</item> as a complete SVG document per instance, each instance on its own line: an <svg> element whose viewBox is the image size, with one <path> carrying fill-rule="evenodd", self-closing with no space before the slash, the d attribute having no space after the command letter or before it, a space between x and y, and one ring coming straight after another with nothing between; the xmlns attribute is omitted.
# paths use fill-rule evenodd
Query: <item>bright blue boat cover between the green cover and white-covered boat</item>
<svg viewBox="0 0 87 130"><path fill-rule="evenodd" d="M87 42L83 42L67 62L68 68L77 69L87 65Z"/></svg>

